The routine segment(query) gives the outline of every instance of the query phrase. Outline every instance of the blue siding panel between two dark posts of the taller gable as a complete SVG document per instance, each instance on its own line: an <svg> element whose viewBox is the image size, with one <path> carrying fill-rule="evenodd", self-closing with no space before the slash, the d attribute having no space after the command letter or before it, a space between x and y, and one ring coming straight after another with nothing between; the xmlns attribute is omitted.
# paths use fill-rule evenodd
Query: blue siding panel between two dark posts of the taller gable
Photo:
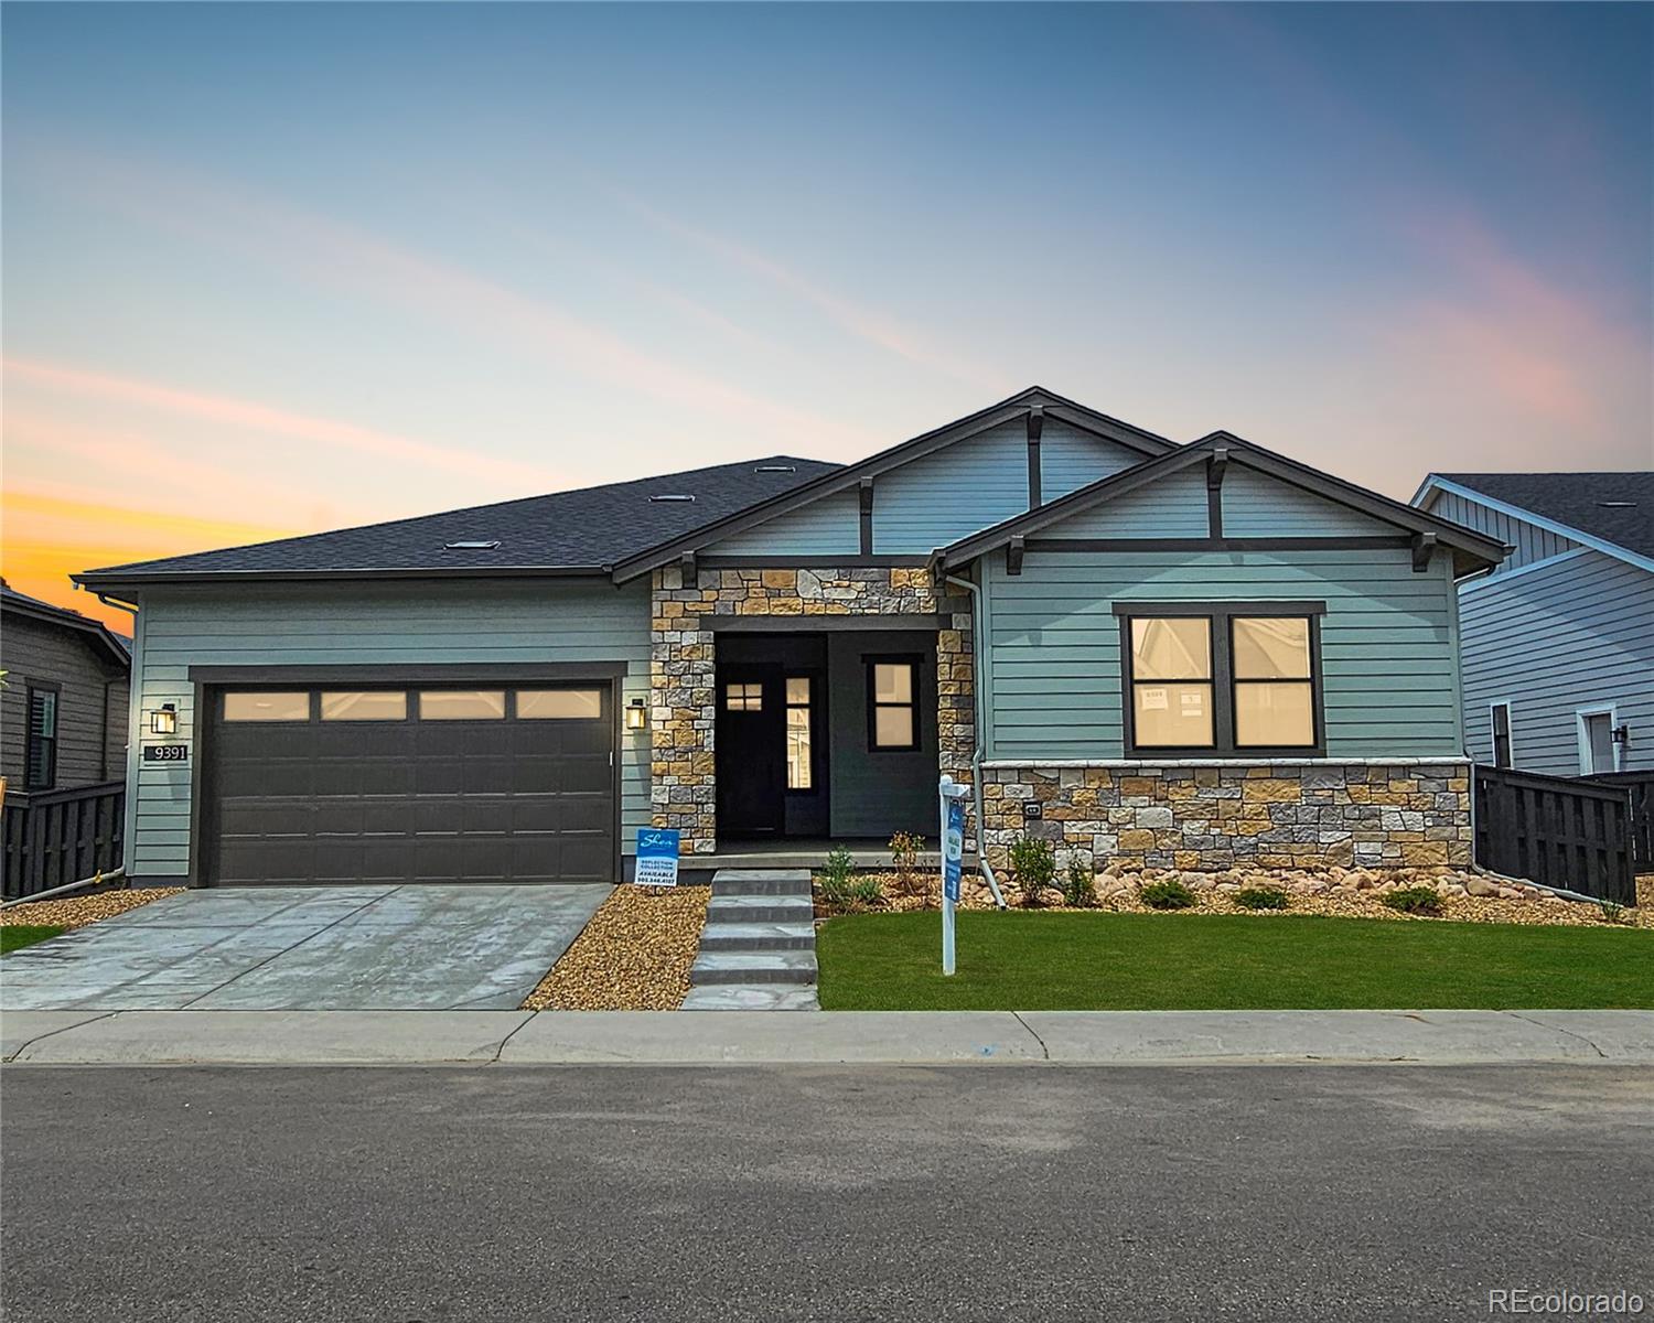
<svg viewBox="0 0 1654 1323"><path fill-rule="evenodd" d="M873 551L923 556L1027 508L1027 423L1017 420L877 478Z"/></svg>

